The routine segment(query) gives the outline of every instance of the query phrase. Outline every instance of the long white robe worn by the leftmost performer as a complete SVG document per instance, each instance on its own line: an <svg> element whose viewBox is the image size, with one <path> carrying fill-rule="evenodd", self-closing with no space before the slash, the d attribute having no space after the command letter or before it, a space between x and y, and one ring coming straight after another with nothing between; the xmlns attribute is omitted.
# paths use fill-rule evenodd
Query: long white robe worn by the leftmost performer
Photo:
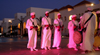
<svg viewBox="0 0 100 55"><path fill-rule="evenodd" d="M34 25L37 26L37 21L36 19L32 19L32 22L34 22ZM36 43L37 43L37 31L33 28L32 30L30 30L30 26L34 26L31 22L31 20L28 19L27 23L26 23L26 28L28 29L28 44L27 44L27 48L36 48Z"/></svg>

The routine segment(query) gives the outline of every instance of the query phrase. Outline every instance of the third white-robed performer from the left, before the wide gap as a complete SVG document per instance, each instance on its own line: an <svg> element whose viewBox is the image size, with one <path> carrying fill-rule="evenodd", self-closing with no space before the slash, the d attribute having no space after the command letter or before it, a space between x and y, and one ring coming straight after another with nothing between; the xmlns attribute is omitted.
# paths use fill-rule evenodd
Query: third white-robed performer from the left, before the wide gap
<svg viewBox="0 0 100 55"><path fill-rule="evenodd" d="M53 46L57 47L57 49L60 49L60 43L61 43L61 28L63 30L63 21L60 19L61 14L57 14L58 18L54 20L54 40L53 40Z"/></svg>

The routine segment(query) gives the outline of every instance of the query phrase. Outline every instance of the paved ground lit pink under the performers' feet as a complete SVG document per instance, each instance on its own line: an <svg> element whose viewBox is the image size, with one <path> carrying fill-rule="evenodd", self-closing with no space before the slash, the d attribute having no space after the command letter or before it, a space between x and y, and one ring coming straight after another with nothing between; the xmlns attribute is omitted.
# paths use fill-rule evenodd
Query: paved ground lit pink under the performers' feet
<svg viewBox="0 0 100 55"><path fill-rule="evenodd" d="M51 50L42 50L40 49L40 39L38 39L37 48L39 51L31 52L30 49L27 49L27 41L0 42L0 55L100 55L100 50L92 53L84 53L79 49L79 46L77 47L78 51L69 49L66 46L67 43L68 38L65 38L62 39L61 49L52 48Z"/></svg>

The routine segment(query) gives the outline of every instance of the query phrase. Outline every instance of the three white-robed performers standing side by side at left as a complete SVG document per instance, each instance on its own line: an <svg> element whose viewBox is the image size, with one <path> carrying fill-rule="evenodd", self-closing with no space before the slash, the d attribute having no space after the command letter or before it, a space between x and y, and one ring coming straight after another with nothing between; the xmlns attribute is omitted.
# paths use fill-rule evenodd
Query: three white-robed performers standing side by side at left
<svg viewBox="0 0 100 55"><path fill-rule="evenodd" d="M35 12L32 12L31 18L27 20L26 28L28 29L28 44L27 48L30 48L31 51L36 49L37 43L37 21L35 19ZM54 41L52 47L57 47L60 49L59 45L61 43L61 31L63 31L64 25L63 21L60 19L61 14L57 14L58 18L54 20ZM41 48L45 50L50 50L51 47L51 35L53 25L51 24L51 19L49 18L49 12L45 12L45 17L42 18L42 39L41 39Z"/></svg>

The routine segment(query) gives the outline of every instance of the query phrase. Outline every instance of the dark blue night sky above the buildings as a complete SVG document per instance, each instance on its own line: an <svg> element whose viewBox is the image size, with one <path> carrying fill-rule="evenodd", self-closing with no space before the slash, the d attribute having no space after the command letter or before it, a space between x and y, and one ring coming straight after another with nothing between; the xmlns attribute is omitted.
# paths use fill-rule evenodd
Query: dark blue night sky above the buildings
<svg viewBox="0 0 100 55"><path fill-rule="evenodd" d="M61 8L66 5L76 5L83 0L0 0L0 20L3 18L14 18L15 13L26 13L26 9L29 7L40 8ZM99 0L87 0L95 4L99 3Z"/></svg>

